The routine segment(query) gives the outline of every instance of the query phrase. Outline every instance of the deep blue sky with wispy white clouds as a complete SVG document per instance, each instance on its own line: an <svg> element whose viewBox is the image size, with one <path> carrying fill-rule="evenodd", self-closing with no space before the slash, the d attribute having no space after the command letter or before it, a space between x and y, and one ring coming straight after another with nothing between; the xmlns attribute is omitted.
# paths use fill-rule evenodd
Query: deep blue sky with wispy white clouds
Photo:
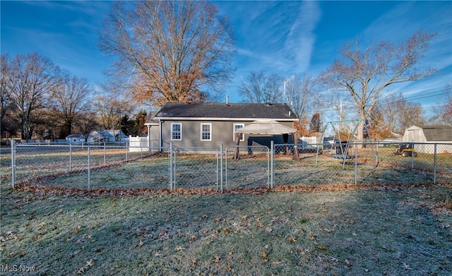
<svg viewBox="0 0 452 276"><path fill-rule="evenodd" d="M1 53L37 52L73 75L102 83L110 60L97 47L112 1L1 1ZM435 76L390 86L426 112L452 84L452 1L215 1L237 36L237 72L227 95L251 71L316 76L345 42L397 42L422 28L437 32L421 66ZM283 84L283 82L282 82Z"/></svg>

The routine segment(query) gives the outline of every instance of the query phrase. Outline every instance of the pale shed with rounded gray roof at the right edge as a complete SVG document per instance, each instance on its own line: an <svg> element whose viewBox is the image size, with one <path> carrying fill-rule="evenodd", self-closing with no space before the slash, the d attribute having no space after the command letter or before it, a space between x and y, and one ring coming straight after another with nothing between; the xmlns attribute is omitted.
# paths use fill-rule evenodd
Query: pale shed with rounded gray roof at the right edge
<svg viewBox="0 0 452 276"><path fill-rule="evenodd" d="M438 145L436 153L452 152L452 126L410 126L405 130L403 142L428 143L415 145L417 152L434 153L434 143L448 143Z"/></svg>

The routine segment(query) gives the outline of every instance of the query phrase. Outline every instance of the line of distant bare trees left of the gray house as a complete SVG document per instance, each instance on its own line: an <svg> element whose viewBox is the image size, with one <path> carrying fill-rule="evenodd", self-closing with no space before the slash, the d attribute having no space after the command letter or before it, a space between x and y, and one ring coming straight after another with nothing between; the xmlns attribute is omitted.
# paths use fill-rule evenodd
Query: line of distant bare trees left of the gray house
<svg viewBox="0 0 452 276"><path fill-rule="evenodd" d="M126 135L147 132L147 113L133 114L126 100L96 97L87 79L71 76L37 53L1 55L1 138L64 139L72 133L119 129Z"/></svg>

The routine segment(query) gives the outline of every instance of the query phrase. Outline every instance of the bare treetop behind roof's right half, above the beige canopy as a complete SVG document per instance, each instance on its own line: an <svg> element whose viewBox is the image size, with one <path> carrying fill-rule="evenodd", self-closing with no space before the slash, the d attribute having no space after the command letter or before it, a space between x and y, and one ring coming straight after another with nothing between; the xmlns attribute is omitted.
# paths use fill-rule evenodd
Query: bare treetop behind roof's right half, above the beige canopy
<svg viewBox="0 0 452 276"><path fill-rule="evenodd" d="M283 78L273 73L266 76L263 71L251 72L239 87L244 102L282 102Z"/></svg>

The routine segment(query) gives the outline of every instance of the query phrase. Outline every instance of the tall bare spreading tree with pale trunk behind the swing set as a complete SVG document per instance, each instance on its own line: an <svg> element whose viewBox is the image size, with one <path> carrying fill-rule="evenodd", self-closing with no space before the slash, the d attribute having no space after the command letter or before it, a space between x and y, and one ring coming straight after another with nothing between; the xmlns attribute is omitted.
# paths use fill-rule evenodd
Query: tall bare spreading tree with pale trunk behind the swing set
<svg viewBox="0 0 452 276"><path fill-rule="evenodd" d="M398 44L379 42L364 51L355 45L345 44L340 49L344 60L335 60L321 80L331 90L345 92L351 97L359 119L367 119L374 109L380 93L393 83L402 83L430 76L434 69L417 68L427 51L434 34L422 30ZM362 140L364 123L358 128L357 138Z"/></svg>

